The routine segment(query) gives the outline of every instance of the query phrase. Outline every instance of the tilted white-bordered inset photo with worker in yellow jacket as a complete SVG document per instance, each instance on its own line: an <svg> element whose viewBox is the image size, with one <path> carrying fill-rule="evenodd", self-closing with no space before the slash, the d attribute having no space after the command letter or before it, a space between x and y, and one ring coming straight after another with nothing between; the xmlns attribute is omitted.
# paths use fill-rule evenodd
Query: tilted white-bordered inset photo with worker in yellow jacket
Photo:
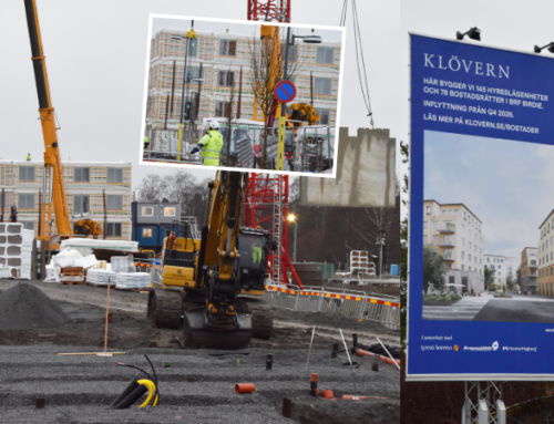
<svg viewBox="0 0 554 424"><path fill-rule="evenodd" d="M150 30L142 164L335 177L345 28L151 15Z"/></svg>

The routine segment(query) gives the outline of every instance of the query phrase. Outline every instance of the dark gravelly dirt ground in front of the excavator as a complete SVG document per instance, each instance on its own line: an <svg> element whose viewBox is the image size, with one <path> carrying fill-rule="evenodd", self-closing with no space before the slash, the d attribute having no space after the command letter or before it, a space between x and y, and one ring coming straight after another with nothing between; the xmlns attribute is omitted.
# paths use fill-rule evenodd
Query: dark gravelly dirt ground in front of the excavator
<svg viewBox="0 0 554 424"><path fill-rule="evenodd" d="M253 339L243 351L184 350L182 330L157 329L146 319L147 294L111 290L109 351L125 355L60 356L61 352L101 352L104 343L106 288L60 286L24 281L40 288L70 318L55 328L31 324L0 331L0 422L9 423L396 423L400 421L399 371L375 358L352 358L353 376L345 353L331 359L342 329L350 347L351 333L373 344L379 337L398 347L398 332L373 322L343 317L275 310L269 340ZM0 280L0 291L18 285ZM307 366L312 325L312 354ZM1 327L1 325L0 325ZM179 340L177 340L179 339ZM31 348L32 347L32 348ZM147 353L160 379L161 405L114 411L111 402L136 378L133 370L115 366L124 361L147 366ZM274 368L266 371L266 355ZM238 360L238 362L237 362ZM379 371L371 371L377 362ZM171 366L164 368L165 363ZM359 394L363 401L335 401L309 395L310 373L319 373L319 387L336 397ZM234 393L235 383L250 382L256 392ZM355 385L356 384L356 391ZM37 397L45 407L34 407ZM281 414L283 399L293 400L293 420Z"/></svg>

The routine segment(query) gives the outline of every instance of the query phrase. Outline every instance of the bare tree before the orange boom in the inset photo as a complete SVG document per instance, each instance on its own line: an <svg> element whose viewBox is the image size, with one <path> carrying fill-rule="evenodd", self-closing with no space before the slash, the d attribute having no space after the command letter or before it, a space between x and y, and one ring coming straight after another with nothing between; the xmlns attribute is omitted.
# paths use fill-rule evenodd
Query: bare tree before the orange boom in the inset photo
<svg viewBox="0 0 554 424"><path fill-rule="evenodd" d="M248 62L250 65L249 85L254 92L254 106L259 108L264 118L264 145L261 151L260 168L270 168L267 158L267 116L274 113L274 91L279 81L283 80L284 49L286 40L279 39L279 27L261 25L261 41L253 37L248 40ZM280 48L283 46L283 48ZM291 53L289 52L289 56ZM287 77L291 79L300 69L301 61L298 58L288 61ZM281 112L284 114L284 112Z"/></svg>

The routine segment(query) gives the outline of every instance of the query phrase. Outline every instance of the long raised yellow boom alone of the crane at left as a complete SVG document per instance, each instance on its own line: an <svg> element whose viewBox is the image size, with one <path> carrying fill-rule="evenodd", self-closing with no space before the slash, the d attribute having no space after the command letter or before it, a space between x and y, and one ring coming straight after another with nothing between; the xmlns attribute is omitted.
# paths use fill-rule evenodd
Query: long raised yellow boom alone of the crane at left
<svg viewBox="0 0 554 424"><path fill-rule="evenodd" d="M39 97L39 113L44 137L44 174L43 183L47 187L47 176L50 178L50 199L41 201L41 232L39 239L50 241L49 230L47 230L45 216L47 204L49 216L52 214L52 204L55 214L55 226L61 236L71 235L71 223L69 217L68 198L63 184L63 170L58 145L58 134L55 127L54 107L50 97L50 86L47 74L45 56L42 49L42 39L39 27L39 15L35 0L24 0L27 23L29 27L29 39L31 41L31 53L34 69L34 81L37 83L37 94ZM43 190L44 199L47 194Z"/></svg>

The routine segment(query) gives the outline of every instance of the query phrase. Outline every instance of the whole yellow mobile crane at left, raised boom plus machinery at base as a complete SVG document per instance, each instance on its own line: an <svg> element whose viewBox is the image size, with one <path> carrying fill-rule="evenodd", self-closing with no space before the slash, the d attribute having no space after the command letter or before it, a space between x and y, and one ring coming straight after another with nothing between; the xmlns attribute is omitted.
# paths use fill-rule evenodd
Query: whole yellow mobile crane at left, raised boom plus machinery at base
<svg viewBox="0 0 554 424"><path fill-rule="evenodd" d="M39 15L35 0L24 0L27 24L29 27L29 39L31 41L31 53L34 69L34 81L39 97L40 122L44 137L44 172L42 177L43 189L40 199L39 240L45 240L50 250L59 250L60 241L71 238L73 235L94 238L102 234L100 226L91 219L81 219L71 228L68 197L63 183L63 170L58 144L55 127L55 115L50 99L50 85L48 82L45 56L42 50L42 38L40 34ZM48 194L48 195L47 195ZM57 237L51 235L52 206L55 216ZM54 240L55 237L55 240Z"/></svg>

